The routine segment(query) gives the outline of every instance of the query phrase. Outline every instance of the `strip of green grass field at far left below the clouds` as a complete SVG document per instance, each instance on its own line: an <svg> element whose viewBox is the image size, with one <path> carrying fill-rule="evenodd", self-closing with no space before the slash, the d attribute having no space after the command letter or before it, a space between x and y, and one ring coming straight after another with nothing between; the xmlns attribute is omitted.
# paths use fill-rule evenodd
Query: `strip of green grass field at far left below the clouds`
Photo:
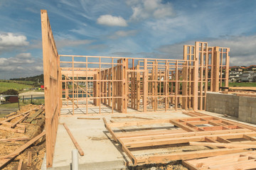
<svg viewBox="0 0 256 170"><path fill-rule="evenodd" d="M4 92L8 89L14 89L17 91L21 91L23 89L31 89L34 88L34 86L28 85L28 84L18 84L14 82L3 82L0 81L0 93Z"/></svg>

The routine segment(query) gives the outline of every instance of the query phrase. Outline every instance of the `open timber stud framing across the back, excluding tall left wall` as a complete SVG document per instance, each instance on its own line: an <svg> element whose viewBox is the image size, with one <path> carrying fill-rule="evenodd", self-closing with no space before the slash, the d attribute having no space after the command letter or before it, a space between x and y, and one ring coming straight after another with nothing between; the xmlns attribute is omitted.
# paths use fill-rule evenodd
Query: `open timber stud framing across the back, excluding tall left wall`
<svg viewBox="0 0 256 170"><path fill-rule="evenodd" d="M184 45L183 60L59 55L63 107L127 113L206 109L206 92L228 86L229 48ZM93 84L93 86L92 86ZM197 85L198 84L198 85Z"/></svg>

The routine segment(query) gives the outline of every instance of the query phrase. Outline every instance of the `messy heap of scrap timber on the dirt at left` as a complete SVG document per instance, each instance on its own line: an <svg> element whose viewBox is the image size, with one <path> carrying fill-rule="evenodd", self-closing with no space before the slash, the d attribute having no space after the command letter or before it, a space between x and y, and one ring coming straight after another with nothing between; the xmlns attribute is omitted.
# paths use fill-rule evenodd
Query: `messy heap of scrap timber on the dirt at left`
<svg viewBox="0 0 256 170"><path fill-rule="evenodd" d="M38 169L32 160L44 149L44 122L43 105L23 106L21 111L0 118L0 169ZM32 149L31 145L38 146Z"/></svg>

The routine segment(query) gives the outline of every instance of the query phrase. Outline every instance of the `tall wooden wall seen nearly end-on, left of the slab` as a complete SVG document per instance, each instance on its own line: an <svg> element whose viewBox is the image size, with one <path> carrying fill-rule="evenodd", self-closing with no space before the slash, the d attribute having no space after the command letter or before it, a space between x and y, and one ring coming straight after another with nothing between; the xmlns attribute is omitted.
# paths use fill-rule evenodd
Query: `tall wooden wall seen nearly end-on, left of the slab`
<svg viewBox="0 0 256 170"><path fill-rule="evenodd" d="M53 154L60 115L60 60L50 28L47 11L41 10L43 76L46 108L46 165L53 165Z"/></svg>

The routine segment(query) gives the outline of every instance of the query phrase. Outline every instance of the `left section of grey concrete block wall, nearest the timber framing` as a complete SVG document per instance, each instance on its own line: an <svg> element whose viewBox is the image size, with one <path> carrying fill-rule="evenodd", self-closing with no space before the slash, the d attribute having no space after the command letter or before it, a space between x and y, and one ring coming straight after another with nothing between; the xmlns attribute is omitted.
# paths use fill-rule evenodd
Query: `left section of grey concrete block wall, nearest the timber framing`
<svg viewBox="0 0 256 170"><path fill-rule="evenodd" d="M206 96L206 111L238 117L239 96L218 92L208 92Z"/></svg>

